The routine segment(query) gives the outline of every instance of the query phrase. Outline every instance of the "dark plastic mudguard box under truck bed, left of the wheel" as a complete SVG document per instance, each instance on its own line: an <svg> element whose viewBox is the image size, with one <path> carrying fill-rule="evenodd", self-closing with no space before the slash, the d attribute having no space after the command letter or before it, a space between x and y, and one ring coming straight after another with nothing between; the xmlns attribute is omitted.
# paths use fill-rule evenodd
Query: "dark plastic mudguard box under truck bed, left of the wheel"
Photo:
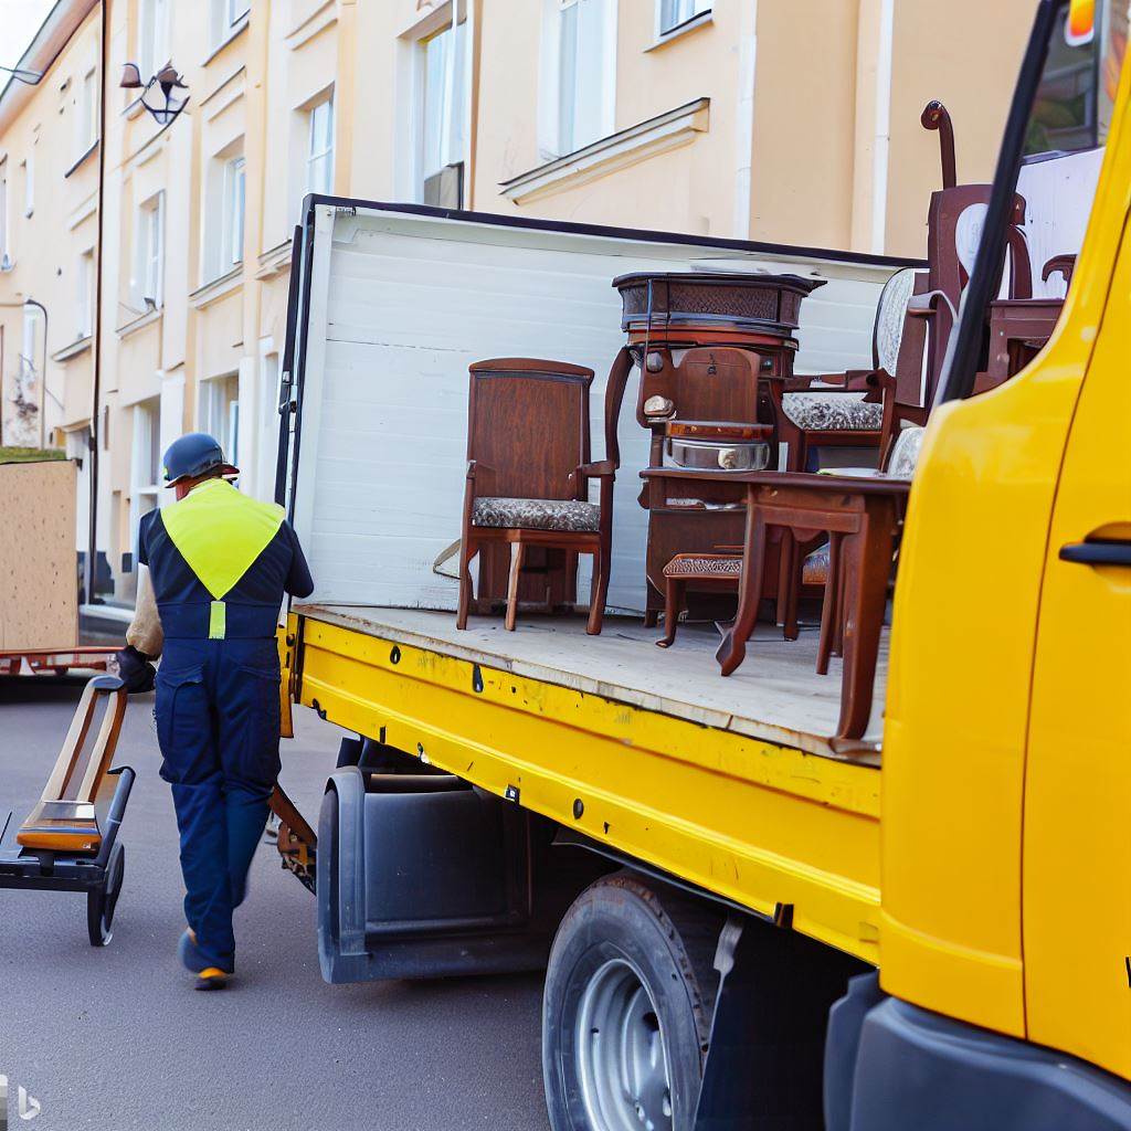
<svg viewBox="0 0 1131 1131"><path fill-rule="evenodd" d="M538 969L527 817L449 775L329 779L318 824L327 982Z"/></svg>

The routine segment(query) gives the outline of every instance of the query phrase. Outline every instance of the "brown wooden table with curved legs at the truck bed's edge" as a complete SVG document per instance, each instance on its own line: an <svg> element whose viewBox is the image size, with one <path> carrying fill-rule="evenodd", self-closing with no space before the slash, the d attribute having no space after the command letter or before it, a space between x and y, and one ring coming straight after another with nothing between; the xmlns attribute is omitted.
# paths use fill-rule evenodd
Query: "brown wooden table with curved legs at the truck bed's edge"
<svg viewBox="0 0 1131 1131"><path fill-rule="evenodd" d="M836 739L860 739L872 711L872 684L887 604L888 576L901 504L910 490L906 480L883 476L815 475L805 472L692 472L649 468L640 473L654 489L687 492L692 483L741 485L745 492L739 611L719 645L716 658L729 675L745 658L746 640L758 619L763 594L767 533L789 530L802 542L826 532L836 543L843 603L844 675ZM826 587L826 612L831 612ZM835 603L835 602L834 602ZM826 633L831 624L823 623Z"/></svg>

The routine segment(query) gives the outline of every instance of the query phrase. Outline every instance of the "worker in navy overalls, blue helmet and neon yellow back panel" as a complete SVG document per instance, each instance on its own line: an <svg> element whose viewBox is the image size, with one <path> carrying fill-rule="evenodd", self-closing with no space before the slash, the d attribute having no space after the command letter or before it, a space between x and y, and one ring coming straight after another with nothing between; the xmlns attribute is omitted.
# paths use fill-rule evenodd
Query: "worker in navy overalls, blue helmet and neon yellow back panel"
<svg viewBox="0 0 1131 1131"><path fill-rule="evenodd" d="M162 657L154 716L181 840L180 955L198 990L223 988L235 969L232 910L279 772L279 607L314 588L283 509L241 494L238 474L201 432L165 452L176 502L141 519L147 573L119 653L131 691L153 685Z"/></svg>

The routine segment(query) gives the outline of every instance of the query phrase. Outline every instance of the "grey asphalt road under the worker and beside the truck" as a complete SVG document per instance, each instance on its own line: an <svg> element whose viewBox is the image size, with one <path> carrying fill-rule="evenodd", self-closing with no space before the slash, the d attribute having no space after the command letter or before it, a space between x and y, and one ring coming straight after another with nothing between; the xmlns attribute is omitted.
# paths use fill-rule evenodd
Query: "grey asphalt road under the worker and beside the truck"
<svg viewBox="0 0 1131 1131"><path fill-rule="evenodd" d="M24 692L26 694L26 692ZM0 688L0 824L21 820L58 756L77 691ZM138 771L126 882L104 949L85 897L0 889L0 1074L10 1126L225 1131L545 1131L541 979L326 985L314 900L264 844L236 915L239 979L196 993L176 960L183 888L153 697L130 701L116 762ZM305 709L283 784L317 814L338 734ZM17 1089L41 1104L17 1119Z"/></svg>

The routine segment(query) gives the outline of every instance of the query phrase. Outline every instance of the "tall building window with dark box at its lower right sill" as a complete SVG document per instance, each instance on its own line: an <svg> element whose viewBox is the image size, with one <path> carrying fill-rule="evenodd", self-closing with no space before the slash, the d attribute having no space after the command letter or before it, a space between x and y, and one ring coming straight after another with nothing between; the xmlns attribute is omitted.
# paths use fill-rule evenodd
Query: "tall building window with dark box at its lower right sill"
<svg viewBox="0 0 1131 1131"><path fill-rule="evenodd" d="M421 44L421 183L426 205L463 204L463 161L467 137L464 89L467 24L450 25Z"/></svg>

